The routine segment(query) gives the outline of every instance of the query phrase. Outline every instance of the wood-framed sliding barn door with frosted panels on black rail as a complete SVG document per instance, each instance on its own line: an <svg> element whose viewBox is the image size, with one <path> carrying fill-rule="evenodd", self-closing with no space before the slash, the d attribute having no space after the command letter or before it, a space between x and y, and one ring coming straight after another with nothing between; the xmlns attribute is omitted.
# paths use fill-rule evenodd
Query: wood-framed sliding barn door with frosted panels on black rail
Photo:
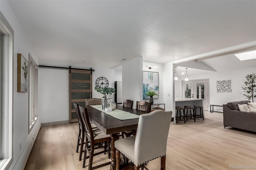
<svg viewBox="0 0 256 170"><path fill-rule="evenodd" d="M69 122L78 122L74 102L85 105L85 99L92 98L91 71L72 70L69 74Z"/></svg>

